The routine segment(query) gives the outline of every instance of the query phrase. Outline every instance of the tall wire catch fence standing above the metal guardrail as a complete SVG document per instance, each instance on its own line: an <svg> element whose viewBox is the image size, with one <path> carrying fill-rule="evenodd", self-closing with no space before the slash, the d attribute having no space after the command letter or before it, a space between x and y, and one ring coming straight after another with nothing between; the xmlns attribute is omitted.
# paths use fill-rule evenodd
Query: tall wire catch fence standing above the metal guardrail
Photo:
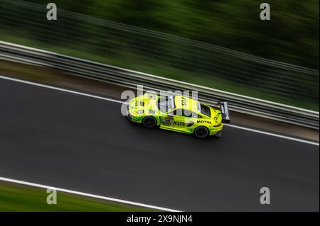
<svg viewBox="0 0 320 226"><path fill-rule="evenodd" d="M65 11L61 5L58 20L47 21L47 11L46 4L0 0L0 40L319 111L318 69ZM273 54L289 53L282 50Z"/></svg>

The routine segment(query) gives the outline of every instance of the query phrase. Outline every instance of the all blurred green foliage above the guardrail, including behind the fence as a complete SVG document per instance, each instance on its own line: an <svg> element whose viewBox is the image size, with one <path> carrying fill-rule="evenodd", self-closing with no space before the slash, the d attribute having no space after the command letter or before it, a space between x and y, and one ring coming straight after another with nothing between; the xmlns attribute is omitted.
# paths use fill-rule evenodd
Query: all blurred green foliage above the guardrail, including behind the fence
<svg viewBox="0 0 320 226"><path fill-rule="evenodd" d="M319 109L317 1L270 1L271 21L255 0L56 0L58 21L29 1L0 0L1 40Z"/></svg>

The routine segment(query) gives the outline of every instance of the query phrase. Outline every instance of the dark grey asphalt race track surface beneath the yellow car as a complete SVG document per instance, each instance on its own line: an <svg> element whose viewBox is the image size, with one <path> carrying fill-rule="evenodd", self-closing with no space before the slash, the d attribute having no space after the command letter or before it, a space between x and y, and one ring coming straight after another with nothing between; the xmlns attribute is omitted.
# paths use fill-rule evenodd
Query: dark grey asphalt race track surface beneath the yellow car
<svg viewBox="0 0 320 226"><path fill-rule="evenodd" d="M120 106L0 79L0 176L176 210L319 211L318 146L148 130Z"/></svg>

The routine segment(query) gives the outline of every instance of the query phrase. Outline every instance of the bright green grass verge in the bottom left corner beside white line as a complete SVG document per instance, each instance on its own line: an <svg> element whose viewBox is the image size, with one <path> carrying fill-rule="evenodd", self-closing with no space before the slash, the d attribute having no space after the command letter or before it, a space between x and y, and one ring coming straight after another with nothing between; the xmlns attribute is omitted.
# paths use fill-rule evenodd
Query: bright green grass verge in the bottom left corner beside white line
<svg viewBox="0 0 320 226"><path fill-rule="evenodd" d="M0 182L0 212L149 212L148 208L57 191L57 204L48 205L45 188Z"/></svg>

